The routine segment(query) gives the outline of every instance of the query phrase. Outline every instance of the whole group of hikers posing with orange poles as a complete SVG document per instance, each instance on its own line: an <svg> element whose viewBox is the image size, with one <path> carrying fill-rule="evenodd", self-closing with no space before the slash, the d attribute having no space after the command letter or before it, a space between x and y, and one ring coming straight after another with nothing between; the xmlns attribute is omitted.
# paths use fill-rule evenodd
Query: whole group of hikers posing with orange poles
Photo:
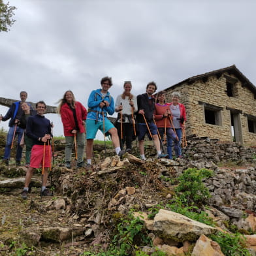
<svg viewBox="0 0 256 256"><path fill-rule="evenodd" d="M112 78L105 76L101 79L101 88L91 91L88 99L88 110L82 103L75 100L71 90L64 93L59 100L57 112L61 116L65 135L65 167L71 168L72 148L76 148L76 166L91 167L93 157L93 140L98 130L106 136L110 135L116 154L122 157L130 152L132 142L138 136L138 149L142 160L146 160L144 153L144 137L147 134L153 140L157 157L172 159L172 144L176 157L182 158L181 138L184 131L185 106L179 103L180 93L172 93L172 102L165 103L165 91L157 90L155 82L146 86L146 93L135 97L131 93L132 84L125 81L123 93L118 95L116 102L110 96L109 89ZM9 130L3 163L8 165L10 150L14 137L18 136L16 149L16 165L21 165L22 145L25 144L25 185L22 198L27 199L29 184L35 168L42 167L42 196L50 196L52 192L46 188L48 172L51 168L52 124L44 117L46 104L39 101L36 110L26 103L27 92L20 92L21 101L10 106L5 116L0 120L10 119ZM118 118L113 124L107 115L118 112ZM136 121L135 121L136 120ZM167 154L163 153L163 144L167 140ZM86 142L86 163L84 163L84 146ZM125 149L124 149L125 145Z"/></svg>

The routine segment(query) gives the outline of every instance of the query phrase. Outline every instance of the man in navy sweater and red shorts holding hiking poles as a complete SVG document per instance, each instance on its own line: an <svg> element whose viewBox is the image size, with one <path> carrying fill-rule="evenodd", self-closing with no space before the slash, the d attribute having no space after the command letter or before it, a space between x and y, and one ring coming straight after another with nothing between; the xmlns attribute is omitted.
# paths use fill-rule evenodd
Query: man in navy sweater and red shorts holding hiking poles
<svg viewBox="0 0 256 256"><path fill-rule="evenodd" d="M46 104L44 101L39 101L36 104L37 115L29 116L27 120L27 136L33 139L34 145L31 150L30 166L25 176L25 186L22 191L22 198L27 199L29 191L29 183L35 168L44 168L42 176L42 196L51 196L52 192L46 189L49 168L51 166L52 148L50 139L52 138L50 120L44 117Z"/></svg>

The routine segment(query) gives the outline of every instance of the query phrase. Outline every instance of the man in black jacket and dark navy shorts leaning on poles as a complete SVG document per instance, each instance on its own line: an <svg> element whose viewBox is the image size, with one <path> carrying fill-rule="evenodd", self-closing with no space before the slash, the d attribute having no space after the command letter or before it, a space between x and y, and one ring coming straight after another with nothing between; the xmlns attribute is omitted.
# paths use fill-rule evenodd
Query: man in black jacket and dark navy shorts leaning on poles
<svg viewBox="0 0 256 256"><path fill-rule="evenodd" d="M155 82L148 83L146 87L146 93L137 96L137 104L138 104L138 148L140 150L140 157L142 160L146 160L144 153L144 136L148 133L152 135L153 144L157 150L157 157L163 158L167 157L161 152L161 145L157 135L157 126L153 122L153 112L155 110L155 98L153 97L153 93L157 90L157 85ZM150 131L148 131L150 130Z"/></svg>

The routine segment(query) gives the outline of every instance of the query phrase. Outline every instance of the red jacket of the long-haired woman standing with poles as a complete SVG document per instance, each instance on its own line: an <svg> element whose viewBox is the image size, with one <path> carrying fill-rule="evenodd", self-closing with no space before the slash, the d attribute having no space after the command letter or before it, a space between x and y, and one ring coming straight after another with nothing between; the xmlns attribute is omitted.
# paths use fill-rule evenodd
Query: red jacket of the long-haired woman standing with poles
<svg viewBox="0 0 256 256"><path fill-rule="evenodd" d="M74 136L74 133L71 133L71 131L74 129L78 129L79 133L86 132L86 130L84 129L83 121L86 120L87 110L80 102L76 101L76 103L74 104L74 112L67 103L64 103L61 106L60 112L65 136Z"/></svg>

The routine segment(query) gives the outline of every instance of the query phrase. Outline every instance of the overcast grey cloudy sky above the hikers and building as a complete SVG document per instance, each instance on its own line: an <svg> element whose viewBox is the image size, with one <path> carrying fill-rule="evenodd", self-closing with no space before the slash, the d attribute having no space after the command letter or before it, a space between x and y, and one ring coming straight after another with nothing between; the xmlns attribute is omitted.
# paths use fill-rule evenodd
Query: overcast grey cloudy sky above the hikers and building
<svg viewBox="0 0 256 256"><path fill-rule="evenodd" d="M255 0L8 1L17 10L0 33L0 97L27 91L28 101L57 106L71 89L88 108L103 76L112 77L116 100L125 80L138 95L152 80L160 91L233 64L256 84ZM60 117L46 118L63 135Z"/></svg>

